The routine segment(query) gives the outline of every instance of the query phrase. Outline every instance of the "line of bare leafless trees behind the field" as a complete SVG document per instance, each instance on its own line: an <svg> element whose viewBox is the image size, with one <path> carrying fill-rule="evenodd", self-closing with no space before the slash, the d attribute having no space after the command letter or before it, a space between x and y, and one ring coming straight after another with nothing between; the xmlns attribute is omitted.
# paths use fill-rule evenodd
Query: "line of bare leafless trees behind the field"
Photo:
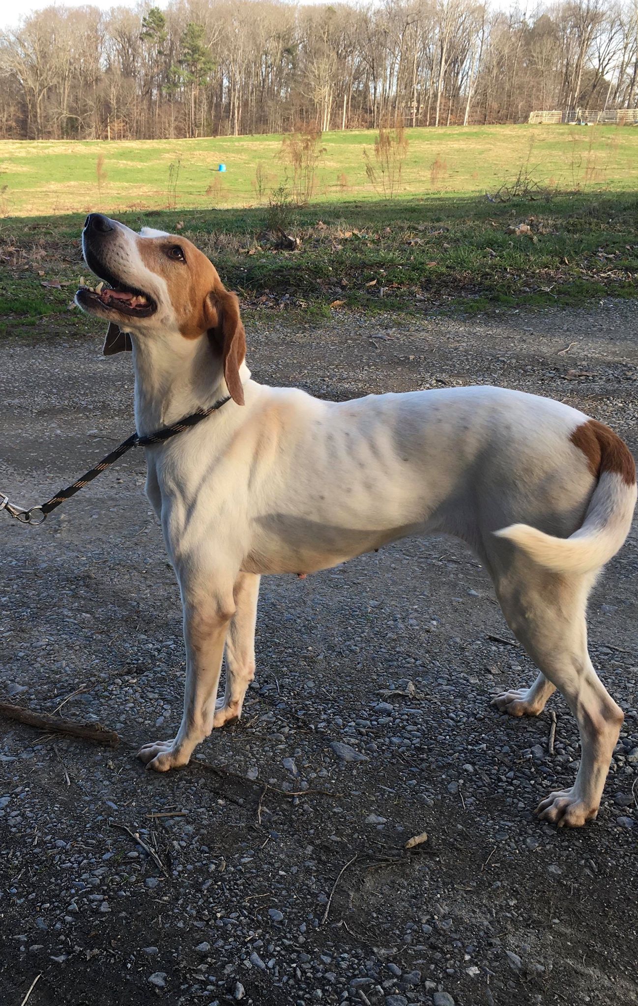
<svg viewBox="0 0 638 1006"><path fill-rule="evenodd" d="M48 7L0 33L0 137L524 122L638 105L638 0Z"/></svg>

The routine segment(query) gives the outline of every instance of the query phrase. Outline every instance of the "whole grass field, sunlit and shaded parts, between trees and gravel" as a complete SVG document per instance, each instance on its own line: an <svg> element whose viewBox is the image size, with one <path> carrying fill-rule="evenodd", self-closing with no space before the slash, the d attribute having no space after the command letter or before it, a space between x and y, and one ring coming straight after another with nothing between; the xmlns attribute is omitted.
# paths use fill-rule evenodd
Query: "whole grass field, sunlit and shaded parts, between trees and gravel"
<svg viewBox="0 0 638 1006"><path fill-rule="evenodd" d="M40 334L43 320L52 335L91 326L69 309L86 273L78 238L88 210L190 237L248 309L480 312L638 293L638 130L409 135L392 200L365 178L362 149L374 134L322 139L315 197L285 214L297 250L278 247L268 208L268 190L284 177L279 137L0 144L0 333ZM169 165L178 159L172 190ZM219 161L225 174L211 170ZM251 185L260 162L261 201ZM521 166L540 189L486 198ZM176 208L167 209L173 197Z"/></svg>

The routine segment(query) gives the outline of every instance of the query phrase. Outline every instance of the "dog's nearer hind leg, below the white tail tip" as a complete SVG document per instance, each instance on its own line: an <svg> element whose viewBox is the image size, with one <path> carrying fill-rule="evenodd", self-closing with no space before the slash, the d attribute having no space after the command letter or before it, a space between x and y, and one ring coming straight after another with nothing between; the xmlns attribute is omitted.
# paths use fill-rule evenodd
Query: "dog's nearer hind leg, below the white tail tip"
<svg viewBox="0 0 638 1006"><path fill-rule="evenodd" d="M550 793L536 813L559 826L578 827L598 813L623 722L623 712L596 674L587 649L585 612L596 574L549 572L511 551L506 563L500 565L492 556L490 565L508 625L540 669L547 688L553 685L566 698L581 734L582 758L574 786ZM541 681L536 696L546 697L547 688Z"/></svg>

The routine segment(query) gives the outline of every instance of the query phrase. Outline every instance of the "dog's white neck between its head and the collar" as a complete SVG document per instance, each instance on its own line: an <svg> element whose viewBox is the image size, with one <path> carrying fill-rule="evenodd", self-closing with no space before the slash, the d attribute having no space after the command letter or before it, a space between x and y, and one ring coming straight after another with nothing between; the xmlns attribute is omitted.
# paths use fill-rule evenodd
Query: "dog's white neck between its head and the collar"
<svg viewBox="0 0 638 1006"><path fill-rule="evenodd" d="M146 436L212 405L227 393L220 357L207 338L144 339L133 335L135 422ZM241 369L243 383L251 373Z"/></svg>

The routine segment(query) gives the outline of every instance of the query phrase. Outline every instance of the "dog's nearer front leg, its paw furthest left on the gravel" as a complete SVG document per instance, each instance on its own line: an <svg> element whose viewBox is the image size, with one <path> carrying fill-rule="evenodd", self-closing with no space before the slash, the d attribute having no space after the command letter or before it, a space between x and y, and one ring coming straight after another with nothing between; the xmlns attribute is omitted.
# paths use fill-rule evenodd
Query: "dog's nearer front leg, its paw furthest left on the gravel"
<svg viewBox="0 0 638 1006"><path fill-rule="evenodd" d="M210 733L221 658L228 623L234 615L231 588L215 591L210 582L196 592L184 591L186 687L184 713L177 736L144 744L139 758L148 769L168 772L187 765L193 750Z"/></svg>

